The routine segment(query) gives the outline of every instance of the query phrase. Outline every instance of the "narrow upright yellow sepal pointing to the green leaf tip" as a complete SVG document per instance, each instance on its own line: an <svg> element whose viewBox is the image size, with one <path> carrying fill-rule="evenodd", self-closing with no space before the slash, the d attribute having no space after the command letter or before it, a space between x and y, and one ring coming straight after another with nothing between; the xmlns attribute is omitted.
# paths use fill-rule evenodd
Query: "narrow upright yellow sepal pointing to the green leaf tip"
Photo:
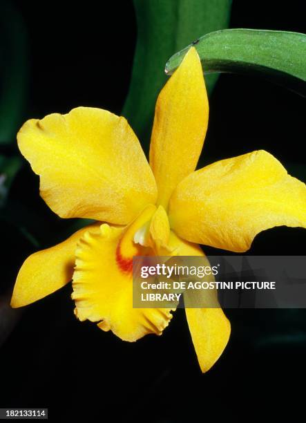
<svg viewBox="0 0 306 423"><path fill-rule="evenodd" d="M164 209L173 189L194 171L207 131L209 104L200 58L191 48L158 96L150 165Z"/></svg>

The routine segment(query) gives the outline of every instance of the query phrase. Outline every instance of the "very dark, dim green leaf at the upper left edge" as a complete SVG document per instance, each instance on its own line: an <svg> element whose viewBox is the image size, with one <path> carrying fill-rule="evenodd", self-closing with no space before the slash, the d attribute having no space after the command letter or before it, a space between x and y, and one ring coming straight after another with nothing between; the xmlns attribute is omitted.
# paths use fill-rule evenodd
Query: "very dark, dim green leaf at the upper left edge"
<svg viewBox="0 0 306 423"><path fill-rule="evenodd" d="M26 30L9 1L0 2L0 144L15 142L28 79Z"/></svg>

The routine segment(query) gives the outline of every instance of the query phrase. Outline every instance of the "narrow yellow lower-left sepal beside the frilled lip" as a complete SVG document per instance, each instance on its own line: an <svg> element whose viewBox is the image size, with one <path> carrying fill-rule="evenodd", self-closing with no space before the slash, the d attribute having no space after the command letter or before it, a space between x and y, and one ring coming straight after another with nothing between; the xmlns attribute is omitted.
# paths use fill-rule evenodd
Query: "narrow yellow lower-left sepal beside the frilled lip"
<svg viewBox="0 0 306 423"><path fill-rule="evenodd" d="M75 265L77 241L85 232L99 231L100 224L94 224L75 232L63 243L32 254L21 266L11 306L26 306L46 295L59 290L71 281Z"/></svg>

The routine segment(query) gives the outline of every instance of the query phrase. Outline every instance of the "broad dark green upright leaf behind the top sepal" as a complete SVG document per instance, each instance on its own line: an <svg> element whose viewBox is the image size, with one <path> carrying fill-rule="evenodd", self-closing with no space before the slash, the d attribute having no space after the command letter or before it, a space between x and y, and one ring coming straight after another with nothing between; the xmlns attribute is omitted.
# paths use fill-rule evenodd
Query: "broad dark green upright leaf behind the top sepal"
<svg viewBox="0 0 306 423"><path fill-rule="evenodd" d="M142 139L148 138L157 95L166 82L169 55L213 30L227 28L230 0L134 0L137 45L131 86L122 111ZM209 91L216 75L207 79Z"/></svg>

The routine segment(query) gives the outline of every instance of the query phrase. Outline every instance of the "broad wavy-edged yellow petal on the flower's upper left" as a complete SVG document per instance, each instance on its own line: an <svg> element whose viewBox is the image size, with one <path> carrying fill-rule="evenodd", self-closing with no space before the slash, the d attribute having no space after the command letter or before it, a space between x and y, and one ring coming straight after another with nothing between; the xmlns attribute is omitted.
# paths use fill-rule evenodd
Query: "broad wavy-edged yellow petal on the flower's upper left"
<svg viewBox="0 0 306 423"><path fill-rule="evenodd" d="M155 203L153 173L128 122L102 109L28 120L17 135L40 177L41 196L60 217L125 225Z"/></svg>

